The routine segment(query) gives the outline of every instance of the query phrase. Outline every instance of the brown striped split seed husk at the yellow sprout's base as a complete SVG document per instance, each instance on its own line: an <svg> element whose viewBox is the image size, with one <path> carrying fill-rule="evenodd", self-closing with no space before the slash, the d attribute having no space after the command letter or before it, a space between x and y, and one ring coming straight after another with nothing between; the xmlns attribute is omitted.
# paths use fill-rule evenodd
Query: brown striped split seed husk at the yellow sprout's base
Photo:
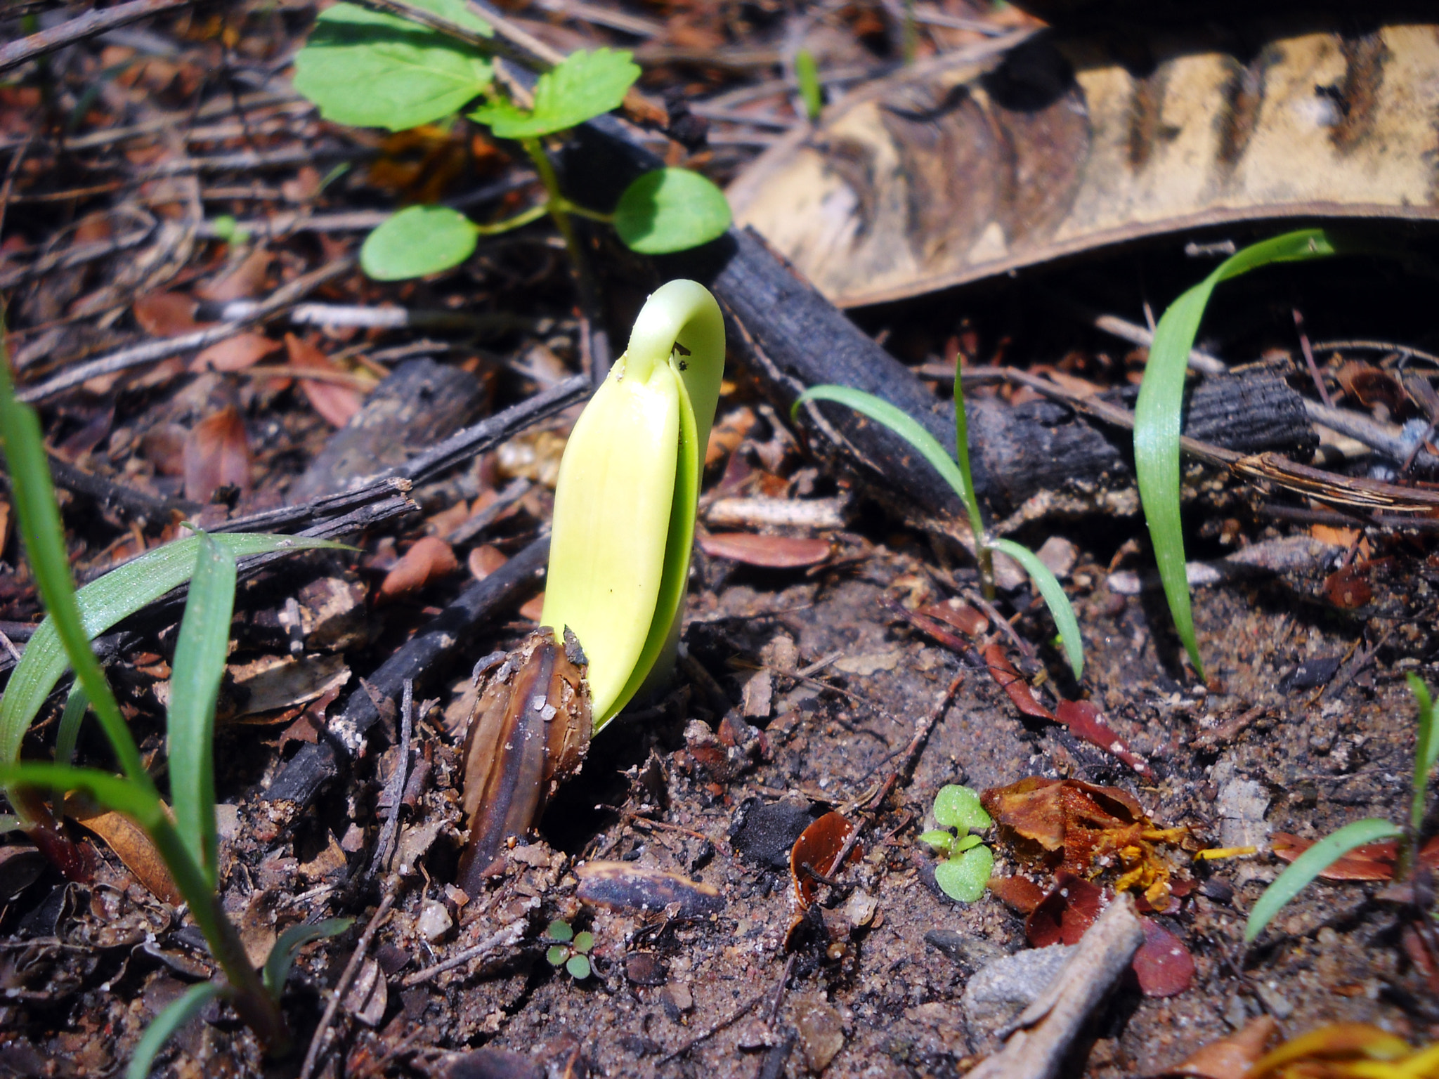
<svg viewBox="0 0 1439 1079"><path fill-rule="evenodd" d="M590 691L584 656L541 629L489 675L469 724L462 758L462 806L469 842L459 886L478 895L507 836L530 830L561 780L580 771L590 748Z"/></svg>

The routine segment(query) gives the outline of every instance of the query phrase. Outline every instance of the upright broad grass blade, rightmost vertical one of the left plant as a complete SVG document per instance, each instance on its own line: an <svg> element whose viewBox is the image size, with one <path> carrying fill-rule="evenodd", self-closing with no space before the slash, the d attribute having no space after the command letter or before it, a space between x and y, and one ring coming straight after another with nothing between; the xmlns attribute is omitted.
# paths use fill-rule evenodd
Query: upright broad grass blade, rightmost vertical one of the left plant
<svg viewBox="0 0 1439 1079"><path fill-rule="evenodd" d="M230 647L235 555L209 535L200 552L180 622L170 678L170 800L176 827L210 886L217 876L214 832L214 705Z"/></svg>

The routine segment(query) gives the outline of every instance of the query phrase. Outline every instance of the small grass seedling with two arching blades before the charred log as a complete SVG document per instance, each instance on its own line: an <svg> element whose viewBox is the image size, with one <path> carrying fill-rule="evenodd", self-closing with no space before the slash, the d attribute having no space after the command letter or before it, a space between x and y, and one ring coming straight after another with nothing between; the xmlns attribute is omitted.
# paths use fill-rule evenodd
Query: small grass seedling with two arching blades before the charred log
<svg viewBox="0 0 1439 1079"><path fill-rule="evenodd" d="M945 479L964 504L964 509L970 518L970 532L974 535L974 552L979 558L980 581L986 596L993 598L994 594L994 563L990 551L1002 551L1025 568L1025 573L1029 574L1039 594L1049 606L1049 613L1055 619L1055 627L1059 630L1059 637L1065 646L1065 656L1069 659L1069 669L1078 682L1084 678L1084 637L1079 636L1079 620L1069 604L1069 597L1065 596L1063 586L1059 584L1059 580L1049 567L1039 561L1039 555L1027 547L1022 547L1013 540L990 538L984 531L984 519L980 516L980 502L974 493L974 481L970 475L968 419L964 414L961 368L963 364L957 364L954 368L954 459L950 457L938 439L921 427L902 409L896 409L889 401L850 386L813 386L799 396L790 414L799 414L800 406L806 401L848 404L855 411L882 423L920 450L920 455Z"/></svg>

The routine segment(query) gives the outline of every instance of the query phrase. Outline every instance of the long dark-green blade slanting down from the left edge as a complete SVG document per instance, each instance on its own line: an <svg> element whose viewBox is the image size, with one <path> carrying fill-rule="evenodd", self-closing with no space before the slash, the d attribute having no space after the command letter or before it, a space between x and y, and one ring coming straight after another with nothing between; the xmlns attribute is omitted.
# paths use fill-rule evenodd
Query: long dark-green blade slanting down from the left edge
<svg viewBox="0 0 1439 1079"><path fill-rule="evenodd" d="M130 728L119 714L119 705L115 704L115 695L109 689L109 682L105 680L105 672L101 670L99 660L95 659L89 634L81 622L79 606L75 601L75 580L71 577L71 563L65 551L60 508L55 501L50 466L45 459L40 422L35 409L20 404L14 399L14 390L10 384L10 361L4 348L0 348L0 440L4 443L12 498L14 499L16 516L20 519L26 555L35 573L36 588L47 611L46 623L55 626L65 656L75 668L75 676L85 688L101 727L105 728L105 735L115 751L121 771L137 784L151 786L135 739L131 738ZM39 630L36 636L39 636ZM26 646L26 653L29 652L30 646ZM12 675L12 682L23 665L24 659L22 657ZM6 692L6 702L9 698L10 693ZM13 745L0 747L0 750L9 751L6 755L0 755L0 761L14 760L23 735L23 728L12 734L0 722L0 737L7 737L7 741L9 737L13 737Z"/></svg>

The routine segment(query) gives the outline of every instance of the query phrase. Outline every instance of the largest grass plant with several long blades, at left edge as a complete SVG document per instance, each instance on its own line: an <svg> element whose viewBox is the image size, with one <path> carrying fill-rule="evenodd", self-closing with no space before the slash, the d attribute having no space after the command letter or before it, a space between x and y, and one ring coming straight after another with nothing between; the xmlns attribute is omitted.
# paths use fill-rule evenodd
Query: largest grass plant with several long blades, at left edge
<svg viewBox="0 0 1439 1079"><path fill-rule="evenodd" d="M283 934L263 974L250 964L239 931L217 891L214 823L214 702L224 675L235 601L236 554L304 547L337 547L294 537L197 535L168 544L86 586L71 577L65 532L35 410L14 399L10 367L0 341L0 445L4 449L26 558L45 603L46 617L30 637L0 698L0 788L14 824L43 832L36 791L83 791L105 809L134 820L154 844L190 916L204 935L223 981L193 985L167 1006L135 1046L127 1079L145 1079L165 1040L209 1001L229 1000L271 1052L281 1053L289 1030L279 996L295 950L317 937L341 932L350 919L331 919ZM91 639L125 614L190 581L170 679L167 716L170 804L167 806L121 715ZM66 704L62 745L50 764L20 761L20 745L66 665L78 689ZM69 764L86 708L94 709L119 773Z"/></svg>

